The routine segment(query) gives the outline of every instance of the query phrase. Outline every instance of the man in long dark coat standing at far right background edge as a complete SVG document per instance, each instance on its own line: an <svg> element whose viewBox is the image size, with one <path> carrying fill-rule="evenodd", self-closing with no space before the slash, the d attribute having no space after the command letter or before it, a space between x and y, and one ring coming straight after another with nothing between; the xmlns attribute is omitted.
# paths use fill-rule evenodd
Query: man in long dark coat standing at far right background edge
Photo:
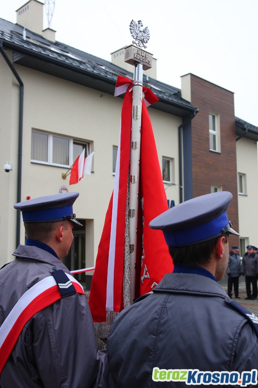
<svg viewBox="0 0 258 388"><path fill-rule="evenodd" d="M253 245L247 245L247 252L242 259L242 274L245 276L246 298L254 300L257 298L257 275L258 275L258 255L254 253ZM252 292L251 292L252 284Z"/></svg>

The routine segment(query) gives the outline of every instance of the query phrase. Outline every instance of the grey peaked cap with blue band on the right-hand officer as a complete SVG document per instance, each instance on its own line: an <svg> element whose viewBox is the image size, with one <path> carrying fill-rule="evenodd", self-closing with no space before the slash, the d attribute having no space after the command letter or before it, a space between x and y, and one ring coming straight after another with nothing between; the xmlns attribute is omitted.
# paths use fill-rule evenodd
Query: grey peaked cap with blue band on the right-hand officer
<svg viewBox="0 0 258 388"><path fill-rule="evenodd" d="M228 221L229 192L218 192L189 199L165 211L150 222L161 229L168 246L184 246L212 240L223 233L239 236Z"/></svg>

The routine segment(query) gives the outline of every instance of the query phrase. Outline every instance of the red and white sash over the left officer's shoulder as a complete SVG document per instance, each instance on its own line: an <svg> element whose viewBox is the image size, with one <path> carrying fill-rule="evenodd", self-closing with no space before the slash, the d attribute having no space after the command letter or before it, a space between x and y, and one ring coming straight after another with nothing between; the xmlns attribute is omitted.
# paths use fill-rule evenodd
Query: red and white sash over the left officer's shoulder
<svg viewBox="0 0 258 388"><path fill-rule="evenodd" d="M76 292L84 294L83 287L70 274L66 274ZM42 279L17 301L0 327L0 373L10 356L25 324L37 312L61 299L58 285L53 276Z"/></svg>

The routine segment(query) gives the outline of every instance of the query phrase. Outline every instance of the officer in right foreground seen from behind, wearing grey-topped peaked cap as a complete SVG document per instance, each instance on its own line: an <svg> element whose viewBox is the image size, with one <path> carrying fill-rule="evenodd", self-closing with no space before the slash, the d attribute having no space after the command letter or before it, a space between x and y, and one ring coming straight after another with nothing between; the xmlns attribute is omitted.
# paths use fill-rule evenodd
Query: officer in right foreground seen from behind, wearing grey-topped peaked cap
<svg viewBox="0 0 258 388"><path fill-rule="evenodd" d="M186 387L182 371L257 368L252 314L217 283L227 269L229 235L239 235L226 212L231 198L228 192L203 195L150 223L163 230L174 271L114 321L107 339L106 387L155 387L158 381L162 387Z"/></svg>

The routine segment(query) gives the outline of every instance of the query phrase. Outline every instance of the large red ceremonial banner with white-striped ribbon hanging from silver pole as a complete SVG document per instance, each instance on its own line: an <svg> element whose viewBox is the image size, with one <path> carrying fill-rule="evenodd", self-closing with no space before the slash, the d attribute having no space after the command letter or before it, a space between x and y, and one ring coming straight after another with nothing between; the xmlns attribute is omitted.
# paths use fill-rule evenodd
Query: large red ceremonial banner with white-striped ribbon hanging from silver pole
<svg viewBox="0 0 258 388"><path fill-rule="evenodd" d="M120 312L124 307L123 275L125 251L126 205L131 149L133 82L118 77L115 96L124 93L114 190L106 212L91 283L90 307L94 322L106 322L106 312ZM168 209L152 125L146 105L157 101L152 91L143 87L142 134L140 157L140 206L136 296L152 291L167 272L172 272L162 231L152 230L149 222Z"/></svg>

